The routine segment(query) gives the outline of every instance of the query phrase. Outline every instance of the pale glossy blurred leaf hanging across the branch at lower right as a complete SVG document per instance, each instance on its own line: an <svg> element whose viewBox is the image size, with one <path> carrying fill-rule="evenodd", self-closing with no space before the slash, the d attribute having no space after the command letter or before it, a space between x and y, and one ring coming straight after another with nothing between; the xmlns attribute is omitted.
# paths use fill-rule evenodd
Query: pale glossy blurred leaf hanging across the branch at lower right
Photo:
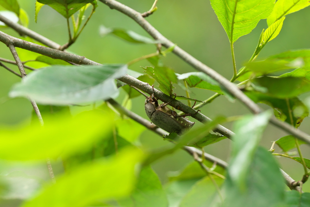
<svg viewBox="0 0 310 207"><path fill-rule="evenodd" d="M233 137L234 146L228 173L231 181L240 189L246 186L245 178L270 117L271 112L265 111L245 116L235 123L233 131L236 135Z"/></svg>

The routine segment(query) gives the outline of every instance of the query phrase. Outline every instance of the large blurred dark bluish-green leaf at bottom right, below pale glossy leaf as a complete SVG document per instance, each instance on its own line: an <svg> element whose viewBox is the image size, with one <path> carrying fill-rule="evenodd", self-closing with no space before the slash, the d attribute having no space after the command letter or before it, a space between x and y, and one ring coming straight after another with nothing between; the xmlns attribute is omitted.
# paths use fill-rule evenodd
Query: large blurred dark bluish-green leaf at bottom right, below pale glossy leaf
<svg viewBox="0 0 310 207"><path fill-rule="evenodd" d="M250 133L247 135L251 136ZM246 150L247 146L243 148ZM242 150L241 150L242 151ZM240 151L240 152L241 152ZM224 183L224 200L223 207L262 207L262 206L282 206L284 200L285 182L279 170L279 165L269 151L263 147L258 147L249 159L250 165L247 167L245 176L240 176L243 188L233 181L230 176ZM228 168L228 174L231 174L231 167Z"/></svg>

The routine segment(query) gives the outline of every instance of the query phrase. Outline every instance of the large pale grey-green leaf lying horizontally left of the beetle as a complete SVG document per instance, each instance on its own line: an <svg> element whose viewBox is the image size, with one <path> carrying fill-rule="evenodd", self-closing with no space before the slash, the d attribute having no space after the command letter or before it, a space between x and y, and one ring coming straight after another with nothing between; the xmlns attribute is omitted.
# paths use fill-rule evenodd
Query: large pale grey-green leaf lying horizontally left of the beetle
<svg viewBox="0 0 310 207"><path fill-rule="evenodd" d="M14 85L11 97L30 97L41 104L80 104L118 95L114 79L126 65L51 66L36 70Z"/></svg>

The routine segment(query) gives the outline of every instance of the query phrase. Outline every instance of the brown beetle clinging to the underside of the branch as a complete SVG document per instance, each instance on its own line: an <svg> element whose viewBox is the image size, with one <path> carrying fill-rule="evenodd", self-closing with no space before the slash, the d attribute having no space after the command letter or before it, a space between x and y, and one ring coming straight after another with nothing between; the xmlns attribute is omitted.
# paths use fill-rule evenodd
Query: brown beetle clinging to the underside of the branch
<svg viewBox="0 0 310 207"><path fill-rule="evenodd" d="M158 99L154 97L153 85L153 94L146 97L144 102L145 113L157 127L162 128L169 133L175 132L181 135L192 128L196 122L192 122L185 118L185 116L193 114L178 115L176 111L167 107L169 103L170 102L158 105ZM196 111L195 114L198 111Z"/></svg>

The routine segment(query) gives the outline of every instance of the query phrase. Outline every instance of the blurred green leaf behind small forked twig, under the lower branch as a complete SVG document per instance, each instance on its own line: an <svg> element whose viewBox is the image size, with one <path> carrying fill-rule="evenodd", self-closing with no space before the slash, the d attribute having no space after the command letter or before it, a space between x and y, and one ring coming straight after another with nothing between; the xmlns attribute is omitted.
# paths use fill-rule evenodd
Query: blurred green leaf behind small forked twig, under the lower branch
<svg viewBox="0 0 310 207"><path fill-rule="evenodd" d="M204 160L204 164L211 168L213 165L213 162L209 160ZM219 165L216 165L216 168L214 169L215 172L224 175L225 169ZM177 172L170 172L169 173L169 181L176 181L176 180L192 180L192 179L201 179L206 176L206 172L201 169L200 164L198 164L196 161L193 161L186 165L184 169Z"/></svg>

